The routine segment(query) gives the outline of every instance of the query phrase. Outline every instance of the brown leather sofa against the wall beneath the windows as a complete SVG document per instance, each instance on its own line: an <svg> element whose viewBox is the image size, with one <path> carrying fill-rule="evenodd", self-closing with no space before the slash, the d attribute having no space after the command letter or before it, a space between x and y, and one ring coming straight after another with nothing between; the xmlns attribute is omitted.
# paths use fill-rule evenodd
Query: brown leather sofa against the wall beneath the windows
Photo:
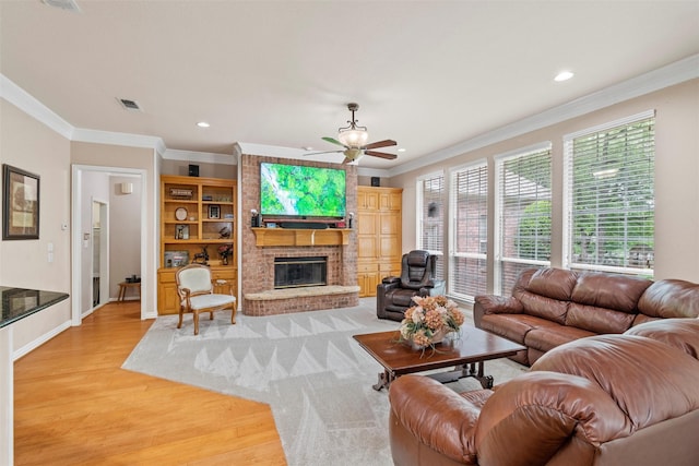
<svg viewBox="0 0 699 466"><path fill-rule="evenodd" d="M511 297L477 296L473 307L476 327L526 346L511 358L526 366L578 338L698 315L699 285L560 268L526 270Z"/></svg>

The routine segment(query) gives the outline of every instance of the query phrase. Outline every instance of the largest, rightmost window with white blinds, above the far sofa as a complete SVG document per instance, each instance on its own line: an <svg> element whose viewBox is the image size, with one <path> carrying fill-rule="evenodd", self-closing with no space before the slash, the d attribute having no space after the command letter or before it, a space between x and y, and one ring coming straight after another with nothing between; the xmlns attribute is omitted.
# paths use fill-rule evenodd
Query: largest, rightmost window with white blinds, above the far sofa
<svg viewBox="0 0 699 466"><path fill-rule="evenodd" d="M653 276L654 116L565 138L568 267Z"/></svg>

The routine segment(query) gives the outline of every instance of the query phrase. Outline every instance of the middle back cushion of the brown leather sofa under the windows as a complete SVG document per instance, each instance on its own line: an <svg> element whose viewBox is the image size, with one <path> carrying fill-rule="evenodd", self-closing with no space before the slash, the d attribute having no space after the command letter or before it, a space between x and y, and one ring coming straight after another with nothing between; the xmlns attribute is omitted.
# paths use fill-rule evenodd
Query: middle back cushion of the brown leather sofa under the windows
<svg viewBox="0 0 699 466"><path fill-rule="evenodd" d="M571 300L580 304L637 313L638 301L653 282L616 274L580 274Z"/></svg>

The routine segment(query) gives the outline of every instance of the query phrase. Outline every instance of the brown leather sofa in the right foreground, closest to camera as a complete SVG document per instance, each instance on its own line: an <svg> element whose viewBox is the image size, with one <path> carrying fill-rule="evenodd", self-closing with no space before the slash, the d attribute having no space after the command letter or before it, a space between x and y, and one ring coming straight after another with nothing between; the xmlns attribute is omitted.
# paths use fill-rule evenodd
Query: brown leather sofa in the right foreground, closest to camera
<svg viewBox="0 0 699 466"><path fill-rule="evenodd" d="M389 390L393 462L697 465L698 354L699 320L665 319L558 346L495 391L401 377Z"/></svg>

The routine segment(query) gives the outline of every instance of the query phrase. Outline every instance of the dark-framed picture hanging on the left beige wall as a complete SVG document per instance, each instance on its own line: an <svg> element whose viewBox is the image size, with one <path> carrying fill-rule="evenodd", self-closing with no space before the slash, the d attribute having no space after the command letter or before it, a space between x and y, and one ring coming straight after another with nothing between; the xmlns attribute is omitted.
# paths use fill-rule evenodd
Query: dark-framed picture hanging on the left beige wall
<svg viewBox="0 0 699 466"><path fill-rule="evenodd" d="M2 164L2 239L39 238L39 176Z"/></svg>

